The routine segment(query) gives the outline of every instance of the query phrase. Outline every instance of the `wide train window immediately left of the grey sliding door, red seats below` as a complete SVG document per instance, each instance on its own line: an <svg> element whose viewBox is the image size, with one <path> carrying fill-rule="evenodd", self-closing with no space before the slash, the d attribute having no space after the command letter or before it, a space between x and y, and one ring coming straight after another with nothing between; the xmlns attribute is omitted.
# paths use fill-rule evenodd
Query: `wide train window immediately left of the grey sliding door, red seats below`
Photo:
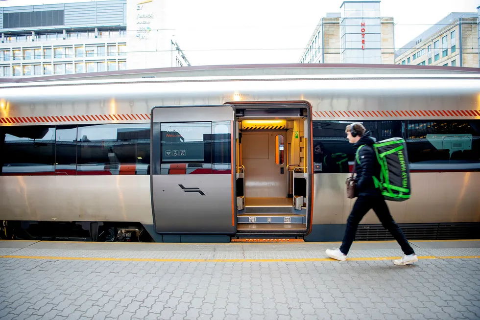
<svg viewBox="0 0 480 320"><path fill-rule="evenodd" d="M78 127L77 175L142 175L149 163L148 124Z"/></svg>

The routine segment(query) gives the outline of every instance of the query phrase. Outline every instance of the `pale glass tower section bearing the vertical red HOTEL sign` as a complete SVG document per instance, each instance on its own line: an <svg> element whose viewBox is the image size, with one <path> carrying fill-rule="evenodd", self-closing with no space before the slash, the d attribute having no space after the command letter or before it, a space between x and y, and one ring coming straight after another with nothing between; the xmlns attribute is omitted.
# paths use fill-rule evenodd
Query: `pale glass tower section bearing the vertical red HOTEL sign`
<svg viewBox="0 0 480 320"><path fill-rule="evenodd" d="M341 9L341 62L381 64L380 1L344 2Z"/></svg>

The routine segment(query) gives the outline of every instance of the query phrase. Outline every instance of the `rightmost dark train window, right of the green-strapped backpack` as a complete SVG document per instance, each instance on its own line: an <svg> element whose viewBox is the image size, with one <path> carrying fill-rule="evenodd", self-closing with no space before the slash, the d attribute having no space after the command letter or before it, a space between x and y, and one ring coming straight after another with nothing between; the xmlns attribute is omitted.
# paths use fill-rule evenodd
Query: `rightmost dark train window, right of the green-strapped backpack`
<svg viewBox="0 0 480 320"><path fill-rule="evenodd" d="M409 120L407 147L414 170L479 170L480 120Z"/></svg>

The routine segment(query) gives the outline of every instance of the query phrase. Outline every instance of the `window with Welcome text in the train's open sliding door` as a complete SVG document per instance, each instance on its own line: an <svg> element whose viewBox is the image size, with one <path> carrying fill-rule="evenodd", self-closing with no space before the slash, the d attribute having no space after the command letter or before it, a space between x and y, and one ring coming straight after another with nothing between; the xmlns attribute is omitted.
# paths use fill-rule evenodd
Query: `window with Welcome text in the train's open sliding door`
<svg viewBox="0 0 480 320"><path fill-rule="evenodd" d="M230 173L230 122L161 123L160 174Z"/></svg>

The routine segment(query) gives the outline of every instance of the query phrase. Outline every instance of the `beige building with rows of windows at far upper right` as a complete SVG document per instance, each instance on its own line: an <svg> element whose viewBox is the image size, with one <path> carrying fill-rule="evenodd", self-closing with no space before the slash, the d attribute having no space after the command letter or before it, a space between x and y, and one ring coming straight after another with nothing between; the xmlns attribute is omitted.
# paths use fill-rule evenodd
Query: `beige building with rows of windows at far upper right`
<svg viewBox="0 0 480 320"><path fill-rule="evenodd" d="M479 68L479 38L479 13L453 12L396 50L395 63Z"/></svg>

